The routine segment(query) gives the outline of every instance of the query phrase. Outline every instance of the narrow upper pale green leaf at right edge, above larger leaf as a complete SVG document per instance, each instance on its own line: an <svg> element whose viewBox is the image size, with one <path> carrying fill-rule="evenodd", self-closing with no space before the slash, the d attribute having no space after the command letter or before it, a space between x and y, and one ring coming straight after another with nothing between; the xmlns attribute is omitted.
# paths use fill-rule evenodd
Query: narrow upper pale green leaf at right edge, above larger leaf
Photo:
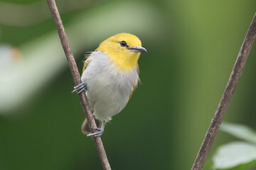
<svg viewBox="0 0 256 170"><path fill-rule="evenodd" d="M238 137L241 140L256 144L255 130L252 130L252 128L249 128L245 125L222 123L222 125L220 126L220 130L222 130L223 132L227 132L235 137Z"/></svg>

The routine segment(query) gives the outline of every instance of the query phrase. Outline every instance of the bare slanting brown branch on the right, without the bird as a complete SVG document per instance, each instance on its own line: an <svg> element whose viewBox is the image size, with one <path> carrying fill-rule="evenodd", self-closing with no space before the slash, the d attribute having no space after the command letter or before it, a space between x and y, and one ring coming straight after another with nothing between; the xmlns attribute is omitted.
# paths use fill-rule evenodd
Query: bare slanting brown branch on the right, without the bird
<svg viewBox="0 0 256 170"><path fill-rule="evenodd" d="M240 48L240 52L238 53L238 58L235 61L235 65L230 74L230 78L228 80L228 84L225 88L224 94L220 99L220 103L218 104L218 108L215 111L215 115L213 116L213 120L211 120L208 131L206 132L206 136L203 139L203 143L201 148L198 151L195 162L193 163L191 170L201 170L203 169L203 164L206 161L206 157L210 152L210 147L213 144L213 140L220 128L220 124L222 123L223 117L228 109L228 105L230 100L234 94L235 87L238 85L238 81L241 77L242 70L245 67L245 62L252 48L252 44L255 40L256 36L256 13L252 19L252 23L250 24L249 29L247 30L247 34L245 35L245 40L242 42L242 47Z"/></svg>

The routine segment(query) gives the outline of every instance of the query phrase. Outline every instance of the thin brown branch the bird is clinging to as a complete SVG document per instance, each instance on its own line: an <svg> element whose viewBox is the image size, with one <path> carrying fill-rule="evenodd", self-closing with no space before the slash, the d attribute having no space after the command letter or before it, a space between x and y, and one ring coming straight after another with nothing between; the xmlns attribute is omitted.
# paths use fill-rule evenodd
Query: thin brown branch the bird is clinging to
<svg viewBox="0 0 256 170"><path fill-rule="evenodd" d="M47 2L48 2L48 6L50 8L50 12L53 15L53 19L55 21L55 25L56 25L57 30L58 30L58 35L60 37L60 42L63 45L63 50L64 50L65 55L67 57L68 64L69 64L69 67L70 67L70 71L71 71L73 79L75 81L75 85L77 86L78 84L81 84L82 81L80 79L80 74L78 72L78 67L75 64L75 59L74 59L74 56L73 56L73 52L71 51L70 45L68 43L68 38L67 38L67 35L65 33L63 23L62 23L61 18L60 18L60 14L58 13L58 8L55 4L55 0L47 0ZM86 116L87 121L88 121L88 123L91 127L91 131L95 132L95 130L93 128L97 128L97 126L96 126L95 120L93 118L92 111L90 110L90 106L88 104L87 97L85 95L85 91L82 91L82 93L79 94L79 97L80 97L80 102L81 102L81 105L82 105L82 110L85 112L85 116ZM103 147L101 138L100 137L93 137L93 139L95 141L95 145L96 145L97 152L99 154L100 161L102 163L103 169L111 169L110 168L110 163L107 160L107 154L106 154L105 149Z"/></svg>

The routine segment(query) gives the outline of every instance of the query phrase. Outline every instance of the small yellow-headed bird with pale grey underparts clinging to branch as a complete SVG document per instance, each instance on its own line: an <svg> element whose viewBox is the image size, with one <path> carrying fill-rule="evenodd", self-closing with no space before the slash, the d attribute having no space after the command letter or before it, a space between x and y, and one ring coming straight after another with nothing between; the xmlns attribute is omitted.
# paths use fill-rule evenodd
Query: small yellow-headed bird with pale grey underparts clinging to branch
<svg viewBox="0 0 256 170"><path fill-rule="evenodd" d="M139 55L147 52L137 36L129 33L113 35L100 43L85 60L82 84L74 87L85 91L98 128L91 133L87 120L82 132L88 137L102 135L105 124L127 105L139 81Z"/></svg>

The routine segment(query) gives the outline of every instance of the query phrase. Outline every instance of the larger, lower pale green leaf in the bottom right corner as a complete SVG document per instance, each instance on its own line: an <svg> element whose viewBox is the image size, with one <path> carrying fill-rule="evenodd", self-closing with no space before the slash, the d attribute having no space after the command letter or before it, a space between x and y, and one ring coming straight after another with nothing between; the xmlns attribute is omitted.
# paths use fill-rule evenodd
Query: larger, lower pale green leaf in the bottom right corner
<svg viewBox="0 0 256 170"><path fill-rule="evenodd" d="M246 142L231 142L218 148L213 157L213 169L245 169L256 163L256 145Z"/></svg>

